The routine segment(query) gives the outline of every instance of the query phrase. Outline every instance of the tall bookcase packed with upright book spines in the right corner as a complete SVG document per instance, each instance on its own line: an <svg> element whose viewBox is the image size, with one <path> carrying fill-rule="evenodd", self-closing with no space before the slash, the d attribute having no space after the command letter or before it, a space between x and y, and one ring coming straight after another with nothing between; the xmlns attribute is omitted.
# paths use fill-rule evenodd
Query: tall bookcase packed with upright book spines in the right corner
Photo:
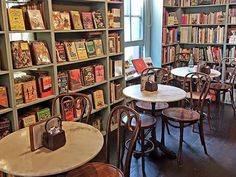
<svg viewBox="0 0 236 177"><path fill-rule="evenodd" d="M183 49L193 52L196 62L208 58L207 63L218 64L223 57L235 57L235 43L229 43L229 38L235 32L236 22L232 17L235 16L236 3L232 0L212 2L200 5L196 0L164 1L163 66L171 65L175 54L183 52ZM169 14L173 17L168 17ZM203 20L207 18L208 21Z"/></svg>

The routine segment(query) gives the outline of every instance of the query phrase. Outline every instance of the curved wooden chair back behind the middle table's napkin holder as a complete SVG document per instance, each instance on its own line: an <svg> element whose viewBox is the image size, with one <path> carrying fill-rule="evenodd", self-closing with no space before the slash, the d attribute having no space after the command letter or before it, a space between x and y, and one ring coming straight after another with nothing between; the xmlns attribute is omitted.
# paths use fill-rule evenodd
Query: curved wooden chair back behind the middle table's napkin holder
<svg viewBox="0 0 236 177"><path fill-rule="evenodd" d="M141 77L148 75L154 76L154 81L159 84L168 84L170 81L170 71L164 68L146 68L141 73Z"/></svg>

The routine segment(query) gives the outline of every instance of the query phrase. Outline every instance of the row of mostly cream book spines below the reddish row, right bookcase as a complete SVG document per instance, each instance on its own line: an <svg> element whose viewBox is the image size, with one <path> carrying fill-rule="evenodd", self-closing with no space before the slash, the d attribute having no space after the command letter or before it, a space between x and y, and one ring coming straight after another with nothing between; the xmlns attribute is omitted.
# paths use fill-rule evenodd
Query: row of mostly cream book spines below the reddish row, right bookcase
<svg viewBox="0 0 236 177"><path fill-rule="evenodd" d="M217 43L224 42L224 27L198 28L180 27L180 43Z"/></svg>

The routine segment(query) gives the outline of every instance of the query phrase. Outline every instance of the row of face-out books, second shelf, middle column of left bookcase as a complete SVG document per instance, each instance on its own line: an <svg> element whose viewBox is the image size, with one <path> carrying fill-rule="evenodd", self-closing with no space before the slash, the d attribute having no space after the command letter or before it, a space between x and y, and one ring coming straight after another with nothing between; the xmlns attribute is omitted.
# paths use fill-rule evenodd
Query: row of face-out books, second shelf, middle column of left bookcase
<svg viewBox="0 0 236 177"><path fill-rule="evenodd" d="M56 41L56 56L59 63L66 61L84 60L103 56L103 42L101 38L80 39L76 41Z"/></svg>

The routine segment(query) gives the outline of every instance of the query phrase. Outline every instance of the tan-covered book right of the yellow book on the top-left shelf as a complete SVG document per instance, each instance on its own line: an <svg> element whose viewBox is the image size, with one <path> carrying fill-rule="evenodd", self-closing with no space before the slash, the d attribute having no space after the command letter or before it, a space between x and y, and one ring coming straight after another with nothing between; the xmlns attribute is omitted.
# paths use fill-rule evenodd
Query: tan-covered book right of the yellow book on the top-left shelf
<svg viewBox="0 0 236 177"><path fill-rule="evenodd" d="M43 18L40 10L27 10L30 28L32 30L45 29Z"/></svg>

